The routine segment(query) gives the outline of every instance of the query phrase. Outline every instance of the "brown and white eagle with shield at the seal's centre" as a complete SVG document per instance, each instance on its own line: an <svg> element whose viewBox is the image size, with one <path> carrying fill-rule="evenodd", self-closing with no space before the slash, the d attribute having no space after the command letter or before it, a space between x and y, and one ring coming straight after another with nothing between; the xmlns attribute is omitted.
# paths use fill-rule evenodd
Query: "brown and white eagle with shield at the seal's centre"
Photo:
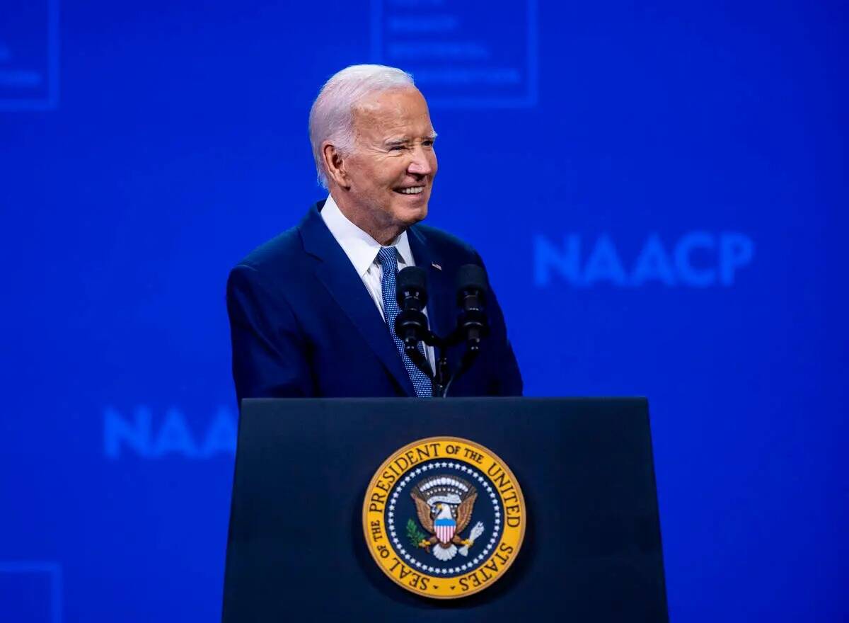
<svg viewBox="0 0 849 623"><path fill-rule="evenodd" d="M469 553L469 547L475 542L476 534L470 539L460 538L472 518L472 509L477 499L477 490L467 480L456 476L431 476L413 487L410 496L416 504L419 523L430 532L429 539L419 541L419 547L430 552L439 560L451 560L462 546L462 555ZM482 526L475 526L473 533L480 534Z"/></svg>

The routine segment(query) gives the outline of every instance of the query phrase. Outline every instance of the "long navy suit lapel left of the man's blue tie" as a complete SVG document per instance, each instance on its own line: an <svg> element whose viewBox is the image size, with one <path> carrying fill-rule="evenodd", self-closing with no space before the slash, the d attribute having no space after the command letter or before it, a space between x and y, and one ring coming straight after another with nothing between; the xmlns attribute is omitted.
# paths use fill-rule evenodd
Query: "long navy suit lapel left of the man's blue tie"
<svg viewBox="0 0 849 623"><path fill-rule="evenodd" d="M323 201L312 206L299 225L304 251L321 260L316 267L316 276L363 335L386 370L408 395L414 396L413 382L404 369L401 354L392 341L386 323L380 317L351 260L324 224L318 212L320 207L323 207ZM356 362L351 362L351 365L356 365Z"/></svg>

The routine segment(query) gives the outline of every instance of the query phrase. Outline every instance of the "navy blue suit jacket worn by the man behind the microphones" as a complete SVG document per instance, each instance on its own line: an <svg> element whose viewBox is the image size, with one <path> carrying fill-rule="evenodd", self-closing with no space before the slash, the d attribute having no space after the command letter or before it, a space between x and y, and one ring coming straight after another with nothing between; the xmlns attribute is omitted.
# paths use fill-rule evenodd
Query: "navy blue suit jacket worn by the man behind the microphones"
<svg viewBox="0 0 849 623"><path fill-rule="evenodd" d="M301 224L251 252L230 273L227 304L239 401L415 395L380 311L324 224L322 207L319 201ZM427 271L430 329L447 335L457 322L457 271L466 263L482 266L481 257L427 225L413 225L408 240L416 265ZM521 395L519 366L492 292L486 309L491 334L450 395ZM452 371L464 348L449 351Z"/></svg>

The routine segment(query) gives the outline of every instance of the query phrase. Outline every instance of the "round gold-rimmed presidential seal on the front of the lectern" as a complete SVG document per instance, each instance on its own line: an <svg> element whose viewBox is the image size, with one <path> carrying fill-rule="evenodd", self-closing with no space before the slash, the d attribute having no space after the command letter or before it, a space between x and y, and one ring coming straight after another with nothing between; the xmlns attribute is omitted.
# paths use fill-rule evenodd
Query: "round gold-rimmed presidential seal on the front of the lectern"
<svg viewBox="0 0 849 623"><path fill-rule="evenodd" d="M509 467L457 437L420 439L392 454L363 501L368 550L392 581L436 599L492 586L525 536L525 500Z"/></svg>

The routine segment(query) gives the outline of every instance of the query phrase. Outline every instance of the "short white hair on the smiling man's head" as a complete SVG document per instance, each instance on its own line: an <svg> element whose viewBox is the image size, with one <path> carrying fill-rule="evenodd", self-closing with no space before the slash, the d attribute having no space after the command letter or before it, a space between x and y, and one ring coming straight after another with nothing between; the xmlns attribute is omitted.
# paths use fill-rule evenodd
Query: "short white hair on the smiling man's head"
<svg viewBox="0 0 849 623"><path fill-rule="evenodd" d="M410 87L415 87L413 76L385 65L351 65L324 82L310 109L310 143L319 184L327 188L322 154L324 141L330 141L345 156L354 150L357 104L372 93Z"/></svg>

